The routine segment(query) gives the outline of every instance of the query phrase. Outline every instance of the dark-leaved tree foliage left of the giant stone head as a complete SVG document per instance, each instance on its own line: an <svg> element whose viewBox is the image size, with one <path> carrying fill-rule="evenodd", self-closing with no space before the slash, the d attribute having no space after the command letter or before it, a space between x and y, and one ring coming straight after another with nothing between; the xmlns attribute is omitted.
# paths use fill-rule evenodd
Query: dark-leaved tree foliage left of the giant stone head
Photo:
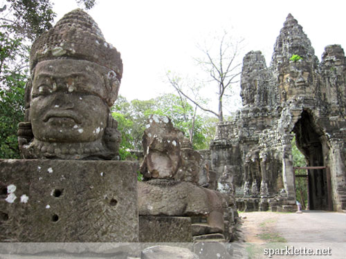
<svg viewBox="0 0 346 259"><path fill-rule="evenodd" d="M11 0L0 12L0 157L19 158L17 124L24 119L30 41L51 28L47 0Z"/></svg>

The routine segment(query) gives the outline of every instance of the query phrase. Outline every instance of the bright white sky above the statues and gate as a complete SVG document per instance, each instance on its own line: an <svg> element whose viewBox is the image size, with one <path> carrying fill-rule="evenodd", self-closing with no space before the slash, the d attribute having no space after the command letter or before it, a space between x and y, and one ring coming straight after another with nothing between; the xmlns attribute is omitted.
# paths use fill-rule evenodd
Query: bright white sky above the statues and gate
<svg viewBox="0 0 346 259"><path fill-rule="evenodd" d="M73 0L55 0L60 19L77 8ZM244 54L261 50L269 64L282 24L291 13L320 59L325 46L346 48L345 0L97 0L89 15L107 42L121 52L124 73L120 95L150 99L172 92L167 70L194 76L197 44L223 29L246 41ZM215 91L211 89L212 93Z"/></svg>

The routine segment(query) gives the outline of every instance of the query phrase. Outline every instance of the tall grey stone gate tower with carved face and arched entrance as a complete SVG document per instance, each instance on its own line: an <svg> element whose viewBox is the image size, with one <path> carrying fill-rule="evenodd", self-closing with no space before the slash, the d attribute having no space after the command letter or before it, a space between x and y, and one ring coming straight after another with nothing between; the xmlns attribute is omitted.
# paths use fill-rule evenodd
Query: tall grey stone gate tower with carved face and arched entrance
<svg viewBox="0 0 346 259"><path fill-rule="evenodd" d="M302 26L289 15L271 65L249 52L242 68L242 102L233 122L217 127L212 169L230 166L239 210L293 211L291 141L307 159L309 209L345 211L346 61L338 45L314 55ZM311 169L317 166L317 169Z"/></svg>

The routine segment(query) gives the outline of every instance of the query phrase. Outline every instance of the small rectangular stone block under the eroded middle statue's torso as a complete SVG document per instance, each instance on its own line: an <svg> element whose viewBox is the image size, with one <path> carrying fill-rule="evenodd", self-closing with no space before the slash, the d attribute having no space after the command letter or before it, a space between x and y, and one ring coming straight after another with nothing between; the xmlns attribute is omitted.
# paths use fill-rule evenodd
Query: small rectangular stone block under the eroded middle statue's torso
<svg viewBox="0 0 346 259"><path fill-rule="evenodd" d="M140 242L192 242L191 218L139 217Z"/></svg>

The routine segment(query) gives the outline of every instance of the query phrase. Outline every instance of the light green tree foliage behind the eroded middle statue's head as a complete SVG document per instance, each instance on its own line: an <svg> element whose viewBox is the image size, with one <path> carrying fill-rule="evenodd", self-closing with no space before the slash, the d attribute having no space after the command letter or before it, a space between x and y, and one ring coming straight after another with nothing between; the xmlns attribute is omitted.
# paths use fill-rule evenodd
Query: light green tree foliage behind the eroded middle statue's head
<svg viewBox="0 0 346 259"><path fill-rule="evenodd" d="M182 104L180 97L173 94L161 95L145 101L135 99L131 102L127 102L125 97L120 96L112 111L122 133L122 143L120 144L122 159L129 155L130 150L142 150L142 137L150 115L170 117L173 125L183 131L185 136L188 136L194 115L194 108L188 102ZM197 115L194 122L195 149L208 148L215 133L215 121L217 121L216 118Z"/></svg>

